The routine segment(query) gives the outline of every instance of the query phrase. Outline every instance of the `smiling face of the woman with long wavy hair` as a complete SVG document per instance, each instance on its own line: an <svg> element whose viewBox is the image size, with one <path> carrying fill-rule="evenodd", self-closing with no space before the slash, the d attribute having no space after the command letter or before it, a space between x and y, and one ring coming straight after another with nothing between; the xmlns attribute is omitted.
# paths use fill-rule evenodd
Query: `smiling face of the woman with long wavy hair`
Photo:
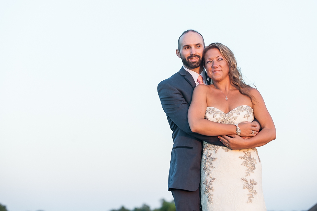
<svg viewBox="0 0 317 211"><path fill-rule="evenodd" d="M221 81L226 77L229 78L229 65L224 60L218 48L208 50L204 56L204 60L204 67L212 80Z"/></svg>

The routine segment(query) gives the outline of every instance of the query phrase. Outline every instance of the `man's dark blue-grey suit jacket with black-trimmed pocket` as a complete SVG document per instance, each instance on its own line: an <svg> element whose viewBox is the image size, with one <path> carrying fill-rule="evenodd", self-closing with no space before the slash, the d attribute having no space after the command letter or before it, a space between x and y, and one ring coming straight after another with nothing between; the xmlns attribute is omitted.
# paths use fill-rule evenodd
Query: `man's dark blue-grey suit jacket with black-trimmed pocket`
<svg viewBox="0 0 317 211"><path fill-rule="evenodd" d="M202 140L224 146L217 136L205 136L191 132L187 113L196 83L183 67L179 72L158 85L159 98L168 123L173 131L168 190L195 191L200 183Z"/></svg>

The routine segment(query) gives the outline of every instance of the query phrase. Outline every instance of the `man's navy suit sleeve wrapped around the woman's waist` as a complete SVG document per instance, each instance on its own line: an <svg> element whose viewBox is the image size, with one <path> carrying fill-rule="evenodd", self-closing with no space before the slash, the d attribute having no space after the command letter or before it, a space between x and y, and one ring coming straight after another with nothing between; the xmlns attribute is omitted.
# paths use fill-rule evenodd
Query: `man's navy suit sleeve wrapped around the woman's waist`
<svg viewBox="0 0 317 211"><path fill-rule="evenodd" d="M187 118L189 104L184 99L182 93L175 87L163 81L158 85L158 94L165 114L168 115L181 130L207 143L224 146L217 136L205 136L191 132Z"/></svg>

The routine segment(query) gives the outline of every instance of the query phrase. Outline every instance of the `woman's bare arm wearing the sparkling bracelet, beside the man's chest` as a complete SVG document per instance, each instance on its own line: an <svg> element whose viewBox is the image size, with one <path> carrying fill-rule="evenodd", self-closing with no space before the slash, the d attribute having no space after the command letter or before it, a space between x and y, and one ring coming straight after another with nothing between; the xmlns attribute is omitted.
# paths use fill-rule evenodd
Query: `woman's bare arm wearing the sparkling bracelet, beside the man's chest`
<svg viewBox="0 0 317 211"><path fill-rule="evenodd" d="M207 108L207 92L210 88L207 85L197 85L193 92L191 105L188 110L188 123L191 131L203 135L229 135L236 134L236 126L229 124L221 124L205 119ZM252 135L253 125L256 123L242 122L238 124L241 129L241 136L255 136ZM212 130L210 130L212 128Z"/></svg>

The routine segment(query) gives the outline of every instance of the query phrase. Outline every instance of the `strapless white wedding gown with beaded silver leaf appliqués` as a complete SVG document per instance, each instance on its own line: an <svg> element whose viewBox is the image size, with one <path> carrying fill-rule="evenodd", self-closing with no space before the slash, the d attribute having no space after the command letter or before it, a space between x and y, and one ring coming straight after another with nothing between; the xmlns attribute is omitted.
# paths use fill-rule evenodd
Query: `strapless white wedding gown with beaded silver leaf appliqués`
<svg viewBox="0 0 317 211"><path fill-rule="evenodd" d="M207 107L205 119L223 124L253 121L253 109L239 106L228 114ZM203 211L266 211L262 165L256 148L231 150L204 142L201 161Z"/></svg>

